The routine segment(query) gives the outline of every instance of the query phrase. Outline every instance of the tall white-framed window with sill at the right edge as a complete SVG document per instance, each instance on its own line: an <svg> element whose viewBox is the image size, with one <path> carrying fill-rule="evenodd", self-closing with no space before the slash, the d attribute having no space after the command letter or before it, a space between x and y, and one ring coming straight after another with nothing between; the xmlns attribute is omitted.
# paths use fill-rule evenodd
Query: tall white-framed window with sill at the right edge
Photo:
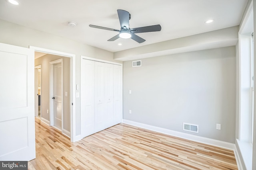
<svg viewBox="0 0 256 170"><path fill-rule="evenodd" d="M239 110L238 139L246 169L252 169L253 160L253 114L254 114L254 19L252 2L239 30ZM256 108L255 108L256 109ZM254 158L255 159L255 158Z"/></svg>

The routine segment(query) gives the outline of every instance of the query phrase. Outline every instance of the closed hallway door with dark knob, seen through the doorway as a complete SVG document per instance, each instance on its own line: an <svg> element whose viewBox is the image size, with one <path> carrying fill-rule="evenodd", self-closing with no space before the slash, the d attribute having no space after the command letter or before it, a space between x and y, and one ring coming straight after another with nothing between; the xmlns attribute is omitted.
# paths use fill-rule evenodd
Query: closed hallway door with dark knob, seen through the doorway
<svg viewBox="0 0 256 170"><path fill-rule="evenodd" d="M62 129L62 63L53 65L53 107L53 125Z"/></svg>

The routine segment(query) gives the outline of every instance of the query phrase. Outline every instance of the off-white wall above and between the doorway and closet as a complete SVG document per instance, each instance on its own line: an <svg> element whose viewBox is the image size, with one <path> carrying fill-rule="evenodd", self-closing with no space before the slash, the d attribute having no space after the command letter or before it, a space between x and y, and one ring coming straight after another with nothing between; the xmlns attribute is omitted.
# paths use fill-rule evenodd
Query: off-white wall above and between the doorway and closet
<svg viewBox="0 0 256 170"><path fill-rule="evenodd" d="M65 53L76 55L76 84L80 85L80 56L92 57L106 61L114 61L122 63L113 59L113 53L90 45L85 45L58 37L49 33L44 33L28 27L23 27L14 23L0 20L0 42L17 45L20 47L40 47L44 49L51 49ZM76 92L80 93L80 89ZM80 98L76 98L76 135L80 135Z"/></svg>

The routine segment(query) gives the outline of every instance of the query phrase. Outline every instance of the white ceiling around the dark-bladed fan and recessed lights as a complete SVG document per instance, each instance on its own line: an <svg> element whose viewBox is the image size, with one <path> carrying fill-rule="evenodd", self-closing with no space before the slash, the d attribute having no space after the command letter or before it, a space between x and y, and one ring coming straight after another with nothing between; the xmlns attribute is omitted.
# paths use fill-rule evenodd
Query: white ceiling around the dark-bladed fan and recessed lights
<svg viewBox="0 0 256 170"><path fill-rule="evenodd" d="M116 52L239 25L248 0L18 0L0 1L0 19ZM138 33L146 39L107 41L117 32L89 24L120 29L117 10L130 12L130 27L160 24L162 30ZM214 19L213 23L204 21ZM68 21L77 23L68 26ZM118 45L122 43L122 45Z"/></svg>

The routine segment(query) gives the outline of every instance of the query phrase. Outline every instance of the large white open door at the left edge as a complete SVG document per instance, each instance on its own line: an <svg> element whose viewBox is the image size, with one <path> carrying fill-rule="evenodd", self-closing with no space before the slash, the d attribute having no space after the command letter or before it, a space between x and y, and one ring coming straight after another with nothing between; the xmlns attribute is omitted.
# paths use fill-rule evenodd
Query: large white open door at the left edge
<svg viewBox="0 0 256 170"><path fill-rule="evenodd" d="M32 160L34 50L0 43L0 72L0 160Z"/></svg>

